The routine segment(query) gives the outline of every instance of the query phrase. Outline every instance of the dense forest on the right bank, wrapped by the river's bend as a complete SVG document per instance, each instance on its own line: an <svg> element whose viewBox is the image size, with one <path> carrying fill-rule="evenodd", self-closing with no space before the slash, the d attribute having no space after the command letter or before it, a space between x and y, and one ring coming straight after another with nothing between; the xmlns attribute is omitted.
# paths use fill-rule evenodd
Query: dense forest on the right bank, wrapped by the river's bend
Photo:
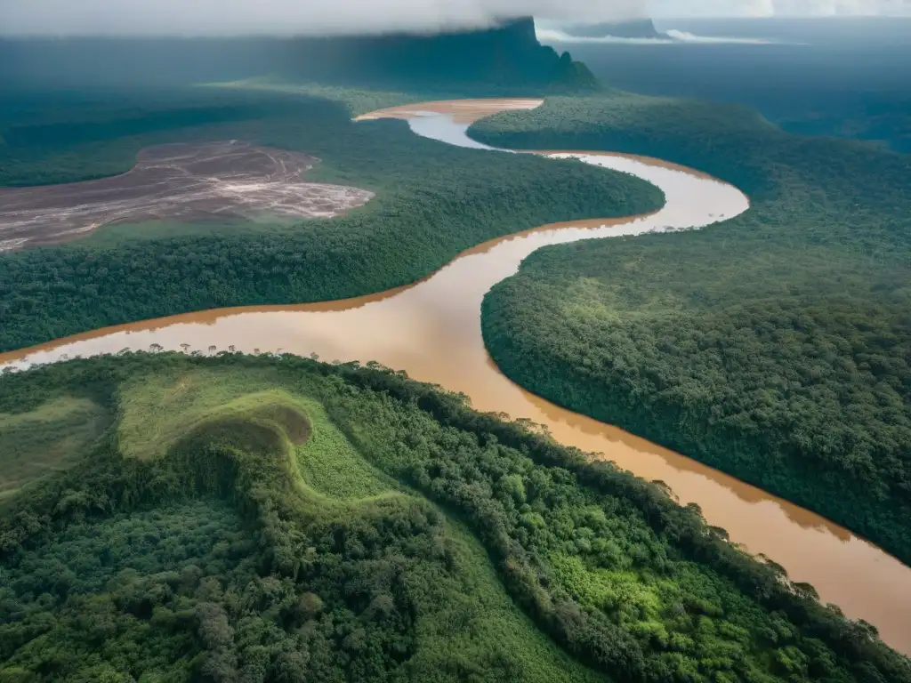
<svg viewBox="0 0 911 683"><path fill-rule="evenodd" d="M488 349L531 391L911 562L911 158L622 93L473 135L652 155L746 191L752 209L698 232L537 251L487 295Z"/></svg>

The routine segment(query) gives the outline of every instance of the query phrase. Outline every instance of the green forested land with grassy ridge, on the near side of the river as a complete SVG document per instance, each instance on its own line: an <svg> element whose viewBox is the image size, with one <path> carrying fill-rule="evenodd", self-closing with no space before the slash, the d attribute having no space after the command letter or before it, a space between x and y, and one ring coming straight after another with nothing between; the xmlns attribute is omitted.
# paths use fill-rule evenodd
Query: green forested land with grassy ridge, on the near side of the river
<svg viewBox="0 0 911 683"><path fill-rule="evenodd" d="M911 680L698 507L374 364L76 360L5 372L0 421L43 464L0 504L3 680Z"/></svg>

